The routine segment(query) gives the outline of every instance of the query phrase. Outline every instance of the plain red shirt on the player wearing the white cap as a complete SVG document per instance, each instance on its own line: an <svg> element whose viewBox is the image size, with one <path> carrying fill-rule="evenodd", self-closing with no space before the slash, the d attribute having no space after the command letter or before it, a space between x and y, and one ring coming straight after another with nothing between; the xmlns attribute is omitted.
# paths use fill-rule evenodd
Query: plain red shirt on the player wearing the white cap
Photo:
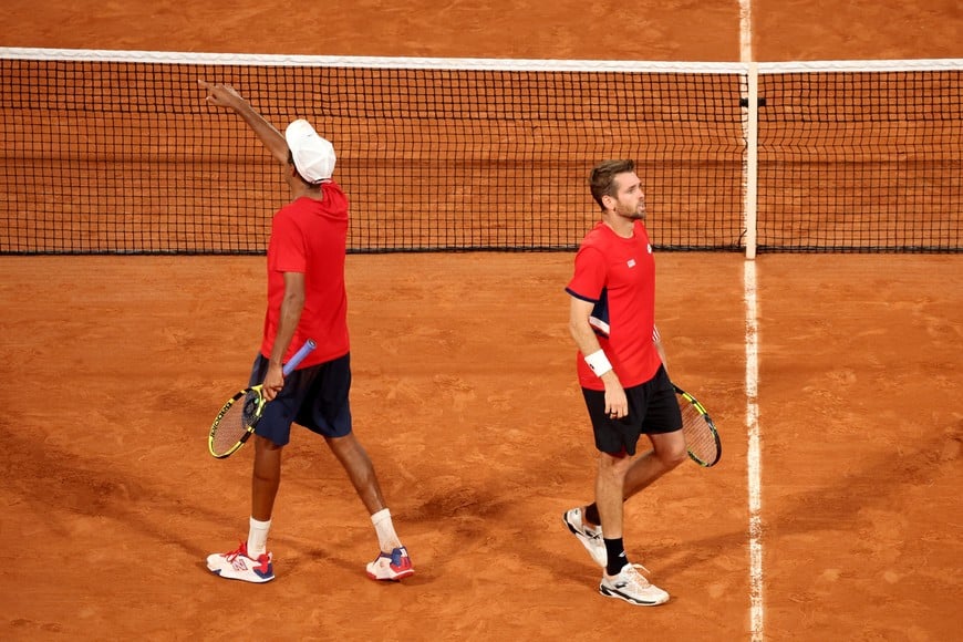
<svg viewBox="0 0 963 642"><path fill-rule="evenodd" d="M278 210L268 245L268 311L261 354L270 358L275 345L284 272L303 273L304 309L284 361L308 339L318 348L298 367L344 356L350 350L344 288L348 197L333 180L322 184L321 191L323 200L302 196Z"/></svg>

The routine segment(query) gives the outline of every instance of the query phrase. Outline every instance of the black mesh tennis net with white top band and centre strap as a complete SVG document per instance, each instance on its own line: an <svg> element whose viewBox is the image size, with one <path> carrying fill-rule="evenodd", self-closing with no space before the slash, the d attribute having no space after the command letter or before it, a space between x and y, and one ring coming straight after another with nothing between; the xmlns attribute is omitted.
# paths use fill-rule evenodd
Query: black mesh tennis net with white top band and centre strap
<svg viewBox="0 0 963 642"><path fill-rule="evenodd" d="M961 72L0 49L0 253L263 252L287 188L198 80L334 143L353 252L574 248L617 157L662 249L961 251Z"/></svg>

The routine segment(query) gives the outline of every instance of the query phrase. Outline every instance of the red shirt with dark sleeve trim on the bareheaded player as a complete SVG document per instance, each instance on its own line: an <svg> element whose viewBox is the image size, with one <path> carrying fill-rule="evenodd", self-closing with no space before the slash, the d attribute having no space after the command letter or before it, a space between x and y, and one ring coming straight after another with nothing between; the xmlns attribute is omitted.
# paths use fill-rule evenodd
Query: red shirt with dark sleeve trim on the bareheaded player
<svg viewBox="0 0 963 642"><path fill-rule="evenodd" d="M582 240L566 291L594 303L589 322L623 387L655 376L662 360L652 341L655 329L655 259L649 232L635 221L632 238L621 238L599 222ZM605 390L578 355L579 383Z"/></svg>

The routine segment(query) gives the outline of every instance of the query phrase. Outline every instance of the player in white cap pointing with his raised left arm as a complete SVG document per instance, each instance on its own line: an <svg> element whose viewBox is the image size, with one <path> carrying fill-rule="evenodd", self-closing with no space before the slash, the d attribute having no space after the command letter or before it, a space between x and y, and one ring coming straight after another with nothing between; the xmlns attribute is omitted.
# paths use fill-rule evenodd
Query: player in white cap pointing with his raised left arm
<svg viewBox="0 0 963 642"><path fill-rule="evenodd" d="M292 122L281 135L230 85L201 81L200 86L209 104L232 110L253 130L284 167L291 189L291 201L271 222L268 310L251 370L251 384L263 382L271 403L253 436L250 529L238 549L209 556L207 567L228 579L275 578L268 531L281 479L281 449L297 423L324 437L371 515L381 550L366 567L369 577L406 578L414 573L411 558L395 532L371 459L352 429L344 287L348 197L332 179L334 147L303 120ZM282 364L308 339L318 348L284 377Z"/></svg>

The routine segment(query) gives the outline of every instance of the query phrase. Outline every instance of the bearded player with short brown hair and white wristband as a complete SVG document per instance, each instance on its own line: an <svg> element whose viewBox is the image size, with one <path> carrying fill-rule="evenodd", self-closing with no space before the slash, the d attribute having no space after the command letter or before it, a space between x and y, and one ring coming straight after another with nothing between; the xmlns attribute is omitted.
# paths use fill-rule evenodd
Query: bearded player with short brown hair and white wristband
<svg viewBox="0 0 963 642"><path fill-rule="evenodd" d="M604 573L603 596L655 605L669 593L629 561L623 501L685 460L682 416L655 331L655 260L645 195L632 161L607 161L590 176L602 219L576 255L569 327L599 464L596 501L563 516ZM641 435L652 448L636 455Z"/></svg>

